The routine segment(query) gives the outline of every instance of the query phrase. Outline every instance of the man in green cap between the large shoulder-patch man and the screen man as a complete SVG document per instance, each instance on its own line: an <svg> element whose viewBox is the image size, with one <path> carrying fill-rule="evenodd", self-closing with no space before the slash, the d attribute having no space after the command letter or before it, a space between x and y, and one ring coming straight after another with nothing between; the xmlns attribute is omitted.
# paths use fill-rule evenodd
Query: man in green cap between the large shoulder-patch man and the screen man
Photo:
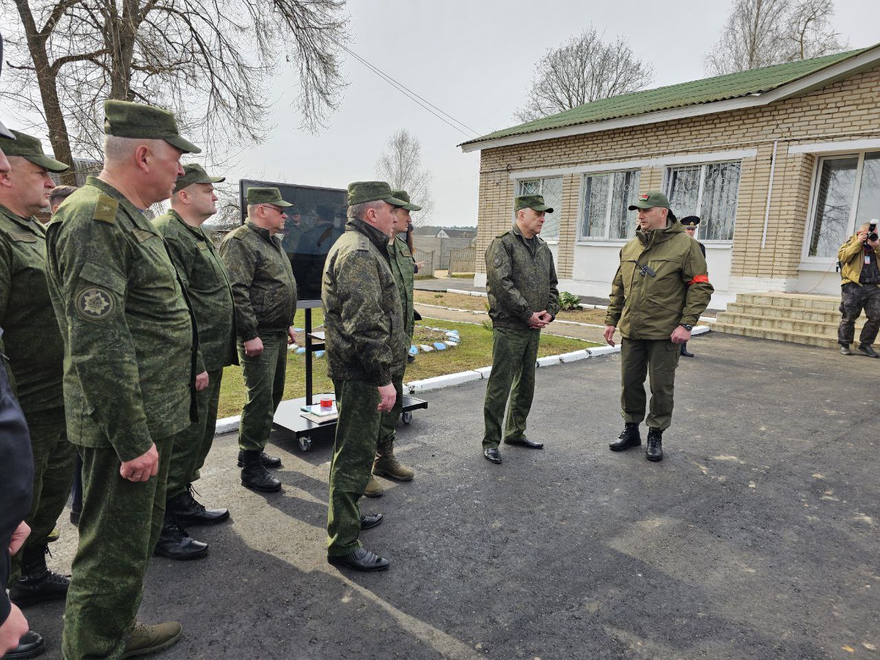
<svg viewBox="0 0 880 660"><path fill-rule="evenodd" d="M229 510L206 509L197 502L192 484L214 441L224 367L238 364L229 277L214 244L202 231L202 223L216 213L214 184L224 177L209 176L195 164L184 165L183 172L174 186L171 210L153 220L187 290L199 334L195 367L199 419L174 436L165 523L156 545L157 554L171 559L194 559L208 551L206 543L189 537L185 525L216 524L229 517Z"/></svg>

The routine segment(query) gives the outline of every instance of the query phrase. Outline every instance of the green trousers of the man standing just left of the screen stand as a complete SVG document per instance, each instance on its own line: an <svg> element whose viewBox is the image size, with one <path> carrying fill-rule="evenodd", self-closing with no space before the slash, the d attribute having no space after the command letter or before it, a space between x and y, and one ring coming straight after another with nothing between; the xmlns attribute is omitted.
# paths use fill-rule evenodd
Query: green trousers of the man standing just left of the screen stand
<svg viewBox="0 0 880 660"><path fill-rule="evenodd" d="M263 352L245 355L245 345L238 341L238 362L247 390L245 407L238 426L238 448L263 451L272 432L275 410L284 394L287 369L287 334L261 335Z"/></svg>

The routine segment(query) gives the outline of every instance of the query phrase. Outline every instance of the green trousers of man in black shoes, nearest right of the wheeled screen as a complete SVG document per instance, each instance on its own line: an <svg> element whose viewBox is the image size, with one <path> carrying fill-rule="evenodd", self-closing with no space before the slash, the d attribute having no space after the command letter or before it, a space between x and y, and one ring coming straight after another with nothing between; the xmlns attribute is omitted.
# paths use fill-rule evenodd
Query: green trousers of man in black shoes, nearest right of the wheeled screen
<svg viewBox="0 0 880 660"><path fill-rule="evenodd" d="M379 392L360 380L335 380L339 419L333 459L330 462L330 495L327 510L327 555L348 554L361 546L361 508L358 501L367 488L379 437Z"/></svg>

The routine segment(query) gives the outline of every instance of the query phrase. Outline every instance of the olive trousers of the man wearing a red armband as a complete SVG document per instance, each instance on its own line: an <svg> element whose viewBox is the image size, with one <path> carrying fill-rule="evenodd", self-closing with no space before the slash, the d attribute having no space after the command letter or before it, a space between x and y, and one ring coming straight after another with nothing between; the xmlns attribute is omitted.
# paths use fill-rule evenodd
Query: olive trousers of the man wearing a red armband
<svg viewBox="0 0 880 660"><path fill-rule="evenodd" d="M675 370L681 346L669 339L620 340L620 414L627 423L645 419L645 376L650 378L651 402L646 424L668 429L672 423Z"/></svg>

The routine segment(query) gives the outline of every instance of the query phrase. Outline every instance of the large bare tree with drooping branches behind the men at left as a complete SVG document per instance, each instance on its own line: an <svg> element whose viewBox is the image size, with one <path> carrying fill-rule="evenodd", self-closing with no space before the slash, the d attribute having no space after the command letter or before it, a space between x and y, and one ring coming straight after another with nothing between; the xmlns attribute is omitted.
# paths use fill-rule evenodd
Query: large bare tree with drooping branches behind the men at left
<svg viewBox="0 0 880 660"><path fill-rule="evenodd" d="M0 5L10 80L0 97L48 126L55 158L100 159L104 99L171 109L209 154L259 142L290 66L305 128L322 125L345 86L345 0L14 0ZM72 172L69 174L72 178Z"/></svg>

